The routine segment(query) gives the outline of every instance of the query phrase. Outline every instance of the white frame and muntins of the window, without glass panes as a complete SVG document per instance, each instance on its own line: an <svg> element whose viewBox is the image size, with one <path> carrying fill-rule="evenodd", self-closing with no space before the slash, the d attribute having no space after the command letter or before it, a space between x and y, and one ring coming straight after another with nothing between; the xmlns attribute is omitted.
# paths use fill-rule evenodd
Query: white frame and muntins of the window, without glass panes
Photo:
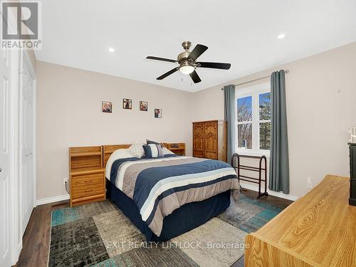
<svg viewBox="0 0 356 267"><path fill-rule="evenodd" d="M245 155L265 155L269 157L270 150L261 150L260 147L260 123L271 122L271 120L260 120L259 95L271 93L270 83L248 86L246 88L236 88L235 90L235 129L236 129L236 152ZM251 96L252 120L246 122L237 121L237 100ZM246 149L239 147L238 128L241 124L252 123L252 148Z"/></svg>

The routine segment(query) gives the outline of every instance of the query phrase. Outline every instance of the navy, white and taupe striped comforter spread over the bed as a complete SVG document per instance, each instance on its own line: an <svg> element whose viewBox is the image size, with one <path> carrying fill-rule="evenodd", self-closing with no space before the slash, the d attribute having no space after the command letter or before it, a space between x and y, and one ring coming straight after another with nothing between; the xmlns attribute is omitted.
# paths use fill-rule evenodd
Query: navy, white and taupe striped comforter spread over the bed
<svg viewBox="0 0 356 267"><path fill-rule="evenodd" d="M132 199L156 236L161 234L164 218L184 204L239 189L236 173L226 162L177 155L117 159L110 182Z"/></svg>

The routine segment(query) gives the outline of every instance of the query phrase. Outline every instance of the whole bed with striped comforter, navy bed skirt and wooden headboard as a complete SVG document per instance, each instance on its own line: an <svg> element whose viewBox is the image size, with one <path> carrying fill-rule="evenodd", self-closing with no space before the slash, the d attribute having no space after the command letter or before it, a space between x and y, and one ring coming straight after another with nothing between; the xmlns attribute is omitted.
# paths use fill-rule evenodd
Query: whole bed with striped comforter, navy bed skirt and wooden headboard
<svg viewBox="0 0 356 267"><path fill-rule="evenodd" d="M147 241L166 241L204 224L239 194L236 173L225 162L178 155L110 157L128 147L103 146L107 198Z"/></svg>

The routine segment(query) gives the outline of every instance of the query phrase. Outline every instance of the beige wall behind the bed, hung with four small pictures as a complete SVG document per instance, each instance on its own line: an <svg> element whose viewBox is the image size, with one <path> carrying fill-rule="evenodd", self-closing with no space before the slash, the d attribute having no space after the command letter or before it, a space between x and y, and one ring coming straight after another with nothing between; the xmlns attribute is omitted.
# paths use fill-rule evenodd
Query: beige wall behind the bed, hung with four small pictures
<svg viewBox="0 0 356 267"><path fill-rule="evenodd" d="M68 147L127 144L150 138L186 142L192 152L192 93L52 63L37 62L37 199L66 194ZM122 109L131 98L132 110ZM113 102L112 114L101 101ZM139 101L148 101L148 111ZM162 108L162 119L154 118Z"/></svg>

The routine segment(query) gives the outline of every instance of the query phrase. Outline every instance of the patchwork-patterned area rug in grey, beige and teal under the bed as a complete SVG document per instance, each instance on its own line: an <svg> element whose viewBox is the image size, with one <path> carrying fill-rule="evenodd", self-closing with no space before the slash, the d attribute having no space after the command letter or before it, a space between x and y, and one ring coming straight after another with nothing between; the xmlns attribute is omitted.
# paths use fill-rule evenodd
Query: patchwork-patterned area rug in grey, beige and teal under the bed
<svg viewBox="0 0 356 267"><path fill-rule="evenodd" d="M52 211L48 266L231 266L244 255L247 233L282 209L241 195L224 213L160 244L106 200Z"/></svg>

